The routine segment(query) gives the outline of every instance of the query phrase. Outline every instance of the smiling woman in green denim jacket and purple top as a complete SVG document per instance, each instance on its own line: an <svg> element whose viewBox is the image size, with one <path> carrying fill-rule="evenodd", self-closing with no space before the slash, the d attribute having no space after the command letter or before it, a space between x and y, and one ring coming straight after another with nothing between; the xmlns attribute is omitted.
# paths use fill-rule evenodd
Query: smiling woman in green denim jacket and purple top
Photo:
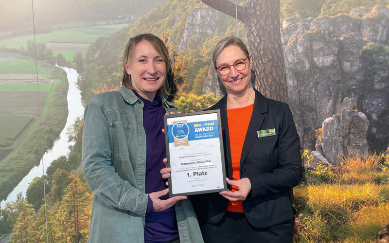
<svg viewBox="0 0 389 243"><path fill-rule="evenodd" d="M169 93L168 70L163 42L135 36L124 51L123 86L94 96L85 108L82 169L94 194L90 243L203 242L189 199L169 198L159 174L166 157L163 115L177 112L162 98Z"/></svg>

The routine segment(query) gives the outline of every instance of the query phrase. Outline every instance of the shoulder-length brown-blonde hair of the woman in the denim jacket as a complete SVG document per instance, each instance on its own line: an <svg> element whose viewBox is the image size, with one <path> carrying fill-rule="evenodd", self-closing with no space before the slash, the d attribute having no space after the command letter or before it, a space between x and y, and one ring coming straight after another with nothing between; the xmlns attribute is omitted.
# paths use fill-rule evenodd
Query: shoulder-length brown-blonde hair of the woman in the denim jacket
<svg viewBox="0 0 389 243"><path fill-rule="evenodd" d="M123 60L124 69L123 69L123 81L122 81L122 85L131 90L134 90L134 87L131 84L131 75L128 75L127 70L125 69L125 65L126 63L131 63L131 59L133 58L135 48L142 40L147 40L148 42L150 42L150 44L155 48L155 50L159 53L159 55L161 55L166 65L166 73L169 72L169 68L170 68L169 54L167 48L163 43L163 41L159 39L159 37L152 34L141 34L132 37L128 41L124 49L124 60ZM157 93L163 98L168 97L170 92L169 82L166 80L166 78L167 77L165 76L165 81L163 85L157 90Z"/></svg>

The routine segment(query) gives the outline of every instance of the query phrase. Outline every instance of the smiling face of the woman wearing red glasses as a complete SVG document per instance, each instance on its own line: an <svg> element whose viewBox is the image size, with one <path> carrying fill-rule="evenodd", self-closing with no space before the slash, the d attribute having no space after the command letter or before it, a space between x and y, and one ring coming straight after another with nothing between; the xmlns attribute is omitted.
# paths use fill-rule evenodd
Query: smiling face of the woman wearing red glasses
<svg viewBox="0 0 389 243"><path fill-rule="evenodd" d="M230 45L223 49L216 58L216 67L222 65L233 65L236 61L245 59L247 56L236 45ZM246 68L237 71L233 66L230 66L230 73L228 75L221 75L217 72L220 77L223 86L227 90L227 94L240 95L245 93L249 88L252 87L251 79L251 57L246 60Z"/></svg>

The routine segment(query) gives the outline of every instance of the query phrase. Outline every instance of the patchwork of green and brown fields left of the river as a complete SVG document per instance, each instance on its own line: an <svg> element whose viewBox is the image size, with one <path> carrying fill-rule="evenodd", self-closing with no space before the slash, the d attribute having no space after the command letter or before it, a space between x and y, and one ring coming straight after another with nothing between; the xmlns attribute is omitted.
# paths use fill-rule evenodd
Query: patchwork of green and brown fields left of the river
<svg viewBox="0 0 389 243"><path fill-rule="evenodd" d="M38 74L36 73L36 69L38 70ZM0 102L2 103L0 108L0 122L2 127L12 125L8 124L9 117L14 118L12 123L15 123L15 125L18 123L20 117L36 119L41 116L41 112L44 117L44 110L47 110L50 96L54 87L56 87L54 84L55 81L53 81L52 78L47 79L52 76L50 73L53 72L53 70L51 69L53 69L51 65L41 61L38 61L36 68L35 60L29 57L15 53L0 53ZM38 80L36 80L37 78ZM37 91L39 91L39 95ZM20 99L21 97L23 98ZM39 111L39 114L36 113L36 106L38 103L43 106L43 110ZM20 112L22 112L23 115L20 116ZM23 120L24 119L21 118L21 123L19 122L20 124L15 126L15 129L11 129L13 130L11 133L17 135L25 133L24 136L4 136L4 139L6 140L2 143L0 142L0 152L4 149L11 149L14 146L12 144L15 144L15 142L17 142L19 146L19 143L22 143L28 134L31 133L33 129L26 131L22 127L22 123L25 123L25 126L29 123L22 122ZM1 146L1 144L3 145ZM11 154L18 149L18 146ZM3 156L4 152L0 156L0 160L3 159Z"/></svg>

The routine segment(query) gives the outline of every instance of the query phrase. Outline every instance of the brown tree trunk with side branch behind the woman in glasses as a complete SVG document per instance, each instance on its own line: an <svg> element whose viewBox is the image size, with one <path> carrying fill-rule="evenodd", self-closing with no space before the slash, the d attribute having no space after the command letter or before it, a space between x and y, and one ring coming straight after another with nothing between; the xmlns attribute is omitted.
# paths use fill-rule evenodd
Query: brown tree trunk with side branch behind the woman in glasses
<svg viewBox="0 0 389 243"><path fill-rule="evenodd" d="M236 17L235 4L229 0L201 0L212 8ZM255 74L255 88L266 97L287 102L285 65L280 33L280 1L248 0L238 6L238 19L243 22L248 38Z"/></svg>

